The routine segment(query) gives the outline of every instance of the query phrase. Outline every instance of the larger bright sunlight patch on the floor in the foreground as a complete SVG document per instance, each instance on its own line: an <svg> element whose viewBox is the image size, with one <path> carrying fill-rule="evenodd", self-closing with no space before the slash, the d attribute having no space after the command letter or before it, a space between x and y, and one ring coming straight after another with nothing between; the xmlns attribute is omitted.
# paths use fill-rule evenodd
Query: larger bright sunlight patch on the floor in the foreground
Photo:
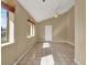
<svg viewBox="0 0 87 65"><path fill-rule="evenodd" d="M54 65L53 55L47 55L41 58L41 65Z"/></svg>

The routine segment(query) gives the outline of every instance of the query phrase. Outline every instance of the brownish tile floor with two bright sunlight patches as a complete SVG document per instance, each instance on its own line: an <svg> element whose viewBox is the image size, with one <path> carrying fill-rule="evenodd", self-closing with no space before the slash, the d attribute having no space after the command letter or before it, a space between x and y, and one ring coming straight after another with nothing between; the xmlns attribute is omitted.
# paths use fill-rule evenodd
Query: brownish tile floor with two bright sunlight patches
<svg viewBox="0 0 87 65"><path fill-rule="evenodd" d="M75 65L74 48L67 43L37 43L18 65Z"/></svg>

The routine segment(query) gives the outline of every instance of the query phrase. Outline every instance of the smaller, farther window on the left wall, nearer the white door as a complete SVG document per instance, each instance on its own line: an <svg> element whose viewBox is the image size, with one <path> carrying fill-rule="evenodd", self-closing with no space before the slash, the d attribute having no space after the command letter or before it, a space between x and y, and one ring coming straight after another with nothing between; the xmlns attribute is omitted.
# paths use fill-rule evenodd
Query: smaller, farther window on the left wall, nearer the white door
<svg viewBox="0 0 87 65"><path fill-rule="evenodd" d="M26 36L31 37L35 35L35 25L32 22L28 22Z"/></svg>

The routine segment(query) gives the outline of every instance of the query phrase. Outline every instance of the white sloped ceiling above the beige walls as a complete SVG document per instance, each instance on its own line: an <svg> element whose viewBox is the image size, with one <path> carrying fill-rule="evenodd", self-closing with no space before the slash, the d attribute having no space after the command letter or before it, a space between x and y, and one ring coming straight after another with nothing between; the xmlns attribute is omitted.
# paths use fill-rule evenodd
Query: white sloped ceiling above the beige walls
<svg viewBox="0 0 87 65"><path fill-rule="evenodd" d="M75 0L18 0L36 22L67 12Z"/></svg>

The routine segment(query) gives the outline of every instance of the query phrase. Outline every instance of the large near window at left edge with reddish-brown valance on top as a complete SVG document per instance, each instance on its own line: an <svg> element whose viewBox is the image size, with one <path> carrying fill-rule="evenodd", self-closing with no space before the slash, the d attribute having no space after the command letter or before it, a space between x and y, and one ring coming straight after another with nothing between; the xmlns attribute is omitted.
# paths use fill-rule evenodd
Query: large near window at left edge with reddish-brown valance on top
<svg viewBox="0 0 87 65"><path fill-rule="evenodd" d="M14 8L1 1L1 46L14 43Z"/></svg>

